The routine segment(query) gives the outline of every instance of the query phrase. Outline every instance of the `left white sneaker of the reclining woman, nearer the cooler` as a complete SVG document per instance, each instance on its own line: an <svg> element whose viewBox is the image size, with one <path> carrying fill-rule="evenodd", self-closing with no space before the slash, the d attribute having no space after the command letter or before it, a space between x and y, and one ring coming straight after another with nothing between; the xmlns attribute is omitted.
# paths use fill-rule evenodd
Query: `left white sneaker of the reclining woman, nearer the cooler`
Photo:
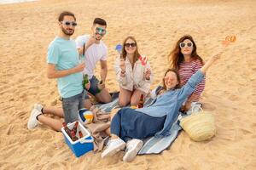
<svg viewBox="0 0 256 170"><path fill-rule="evenodd" d="M125 142L122 139L111 139L107 144L106 150L102 152L102 158L113 156L114 154L119 152L119 150L124 150L124 149L125 149Z"/></svg>

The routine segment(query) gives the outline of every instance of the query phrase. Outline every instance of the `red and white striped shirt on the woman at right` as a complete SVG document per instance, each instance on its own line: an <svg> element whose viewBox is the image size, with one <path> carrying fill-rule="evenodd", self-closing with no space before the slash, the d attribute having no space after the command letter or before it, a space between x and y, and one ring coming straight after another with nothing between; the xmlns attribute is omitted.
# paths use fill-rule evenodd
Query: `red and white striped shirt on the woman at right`
<svg viewBox="0 0 256 170"><path fill-rule="evenodd" d="M201 69L202 64L199 59L192 60L191 62L183 61L179 65L178 74L181 80L181 85L183 86L185 83L188 82L189 78L195 74L196 71ZM204 78L195 88L193 94L201 95L205 88L206 78Z"/></svg>

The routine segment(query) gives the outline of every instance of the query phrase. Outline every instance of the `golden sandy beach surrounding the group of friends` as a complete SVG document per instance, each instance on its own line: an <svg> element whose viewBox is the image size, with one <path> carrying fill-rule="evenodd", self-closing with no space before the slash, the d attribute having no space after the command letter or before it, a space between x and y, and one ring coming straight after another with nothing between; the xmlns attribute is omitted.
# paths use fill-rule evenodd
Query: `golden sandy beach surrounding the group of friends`
<svg viewBox="0 0 256 170"><path fill-rule="evenodd" d="M129 35L154 71L154 88L168 68L177 38L194 37L207 60L224 37L237 40L207 73L204 110L216 119L216 136L194 142L180 133L160 155L122 161L92 152L76 158L61 133L39 125L26 127L32 105L61 107L56 81L46 77L46 53L58 34L57 16L72 11L78 21L73 38L90 33L96 17L108 22L109 91L119 89L113 71L115 45ZM202 0L42 0L1 4L0 15L0 169L255 169L256 168L256 2ZM254 20L254 21L253 21ZM99 75L99 67L96 75Z"/></svg>

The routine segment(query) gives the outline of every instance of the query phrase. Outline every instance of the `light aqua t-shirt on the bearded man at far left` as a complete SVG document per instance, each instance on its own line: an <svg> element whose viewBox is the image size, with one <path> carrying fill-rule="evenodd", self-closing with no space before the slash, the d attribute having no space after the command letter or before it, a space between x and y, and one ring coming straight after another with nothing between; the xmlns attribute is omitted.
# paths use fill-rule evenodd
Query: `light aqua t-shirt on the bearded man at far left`
<svg viewBox="0 0 256 170"><path fill-rule="evenodd" d="M73 40L66 40L61 37L55 37L50 42L47 63L54 64L58 71L68 70L79 65L79 52L76 43ZM73 97L81 94L83 91L83 75L82 72L73 73L67 77L57 79L58 90L62 98Z"/></svg>

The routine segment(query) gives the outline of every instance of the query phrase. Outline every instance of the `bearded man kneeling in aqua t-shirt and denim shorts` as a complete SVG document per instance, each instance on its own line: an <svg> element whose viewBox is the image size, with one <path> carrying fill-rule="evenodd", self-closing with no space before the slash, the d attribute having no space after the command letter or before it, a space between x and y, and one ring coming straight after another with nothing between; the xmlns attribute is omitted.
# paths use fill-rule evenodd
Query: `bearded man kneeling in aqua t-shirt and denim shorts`
<svg viewBox="0 0 256 170"><path fill-rule="evenodd" d="M79 53L76 43L70 38L77 26L73 13L64 11L59 15L60 32L54 41L50 42L47 54L47 77L56 78L58 91L62 98L62 109L65 122L79 120L78 111L84 108L83 75L84 63L79 63ZM43 113L43 111L42 111ZM32 129L40 122L56 130L60 129L60 122L49 120L40 111L33 110L27 127ZM60 114L61 115L61 114Z"/></svg>

